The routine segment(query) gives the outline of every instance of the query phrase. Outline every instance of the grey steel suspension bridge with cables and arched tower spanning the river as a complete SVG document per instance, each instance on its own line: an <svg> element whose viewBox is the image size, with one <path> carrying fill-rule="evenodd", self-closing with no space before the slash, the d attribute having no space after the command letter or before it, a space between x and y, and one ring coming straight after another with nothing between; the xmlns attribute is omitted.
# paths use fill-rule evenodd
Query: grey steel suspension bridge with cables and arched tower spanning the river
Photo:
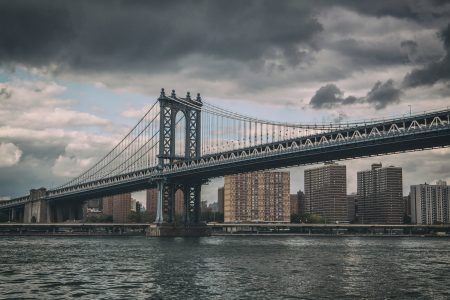
<svg viewBox="0 0 450 300"><path fill-rule="evenodd" d="M201 187L228 174L417 151L450 145L450 109L338 124L262 120L217 107L188 92L161 90L128 134L78 177L50 190L4 201L22 221L61 222L67 203L157 188L155 223L171 223L174 194L184 194L184 222L200 221ZM77 204L78 205L78 204Z"/></svg>

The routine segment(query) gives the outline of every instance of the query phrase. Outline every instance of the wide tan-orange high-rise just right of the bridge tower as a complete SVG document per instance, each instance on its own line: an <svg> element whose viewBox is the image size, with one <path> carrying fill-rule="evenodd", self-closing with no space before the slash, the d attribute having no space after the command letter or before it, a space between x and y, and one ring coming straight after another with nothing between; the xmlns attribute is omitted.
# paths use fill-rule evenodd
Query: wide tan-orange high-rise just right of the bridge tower
<svg viewBox="0 0 450 300"><path fill-rule="evenodd" d="M225 176L224 221L290 220L289 172Z"/></svg>

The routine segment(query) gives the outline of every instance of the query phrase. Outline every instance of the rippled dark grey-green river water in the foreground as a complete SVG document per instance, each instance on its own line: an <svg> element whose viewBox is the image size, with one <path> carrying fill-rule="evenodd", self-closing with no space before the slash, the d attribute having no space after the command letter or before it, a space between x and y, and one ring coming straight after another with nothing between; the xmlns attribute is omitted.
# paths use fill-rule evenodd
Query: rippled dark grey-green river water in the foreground
<svg viewBox="0 0 450 300"><path fill-rule="evenodd" d="M450 299L450 240L0 237L1 299Z"/></svg>

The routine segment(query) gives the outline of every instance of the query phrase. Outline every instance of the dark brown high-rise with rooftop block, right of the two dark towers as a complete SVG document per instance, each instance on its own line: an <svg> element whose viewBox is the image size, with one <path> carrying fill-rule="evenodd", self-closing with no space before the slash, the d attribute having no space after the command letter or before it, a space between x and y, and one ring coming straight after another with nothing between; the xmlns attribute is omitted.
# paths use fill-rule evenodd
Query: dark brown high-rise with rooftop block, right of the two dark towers
<svg viewBox="0 0 450 300"><path fill-rule="evenodd" d="M403 223L402 168L372 164L357 173L358 221L365 224Z"/></svg>

